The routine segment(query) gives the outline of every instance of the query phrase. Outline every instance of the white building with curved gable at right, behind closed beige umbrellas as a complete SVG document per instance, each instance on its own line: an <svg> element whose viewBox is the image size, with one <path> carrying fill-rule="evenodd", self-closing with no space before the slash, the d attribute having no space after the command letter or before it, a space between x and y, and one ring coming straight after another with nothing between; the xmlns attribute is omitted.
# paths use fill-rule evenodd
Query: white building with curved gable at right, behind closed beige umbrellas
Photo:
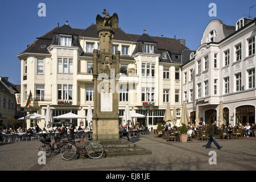
<svg viewBox="0 0 256 182"><path fill-rule="evenodd" d="M201 45L183 60L183 101L195 121L218 121L220 102L224 124L255 123L255 19L241 18L236 26L210 21Z"/></svg>

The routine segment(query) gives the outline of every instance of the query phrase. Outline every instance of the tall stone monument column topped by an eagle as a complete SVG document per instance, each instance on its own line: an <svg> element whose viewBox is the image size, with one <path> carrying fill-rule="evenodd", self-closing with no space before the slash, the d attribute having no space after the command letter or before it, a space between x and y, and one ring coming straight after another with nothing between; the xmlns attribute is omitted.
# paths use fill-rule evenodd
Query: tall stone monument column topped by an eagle
<svg viewBox="0 0 256 182"><path fill-rule="evenodd" d="M118 85L120 51L113 54L112 44L118 15L97 15L96 26L100 51L93 50L94 113L93 140L119 140Z"/></svg>

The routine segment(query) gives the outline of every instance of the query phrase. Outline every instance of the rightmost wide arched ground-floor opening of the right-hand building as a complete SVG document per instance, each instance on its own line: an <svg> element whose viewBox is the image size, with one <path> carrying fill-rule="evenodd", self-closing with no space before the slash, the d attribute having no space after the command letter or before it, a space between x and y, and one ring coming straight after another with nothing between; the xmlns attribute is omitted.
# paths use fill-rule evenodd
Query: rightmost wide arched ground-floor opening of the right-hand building
<svg viewBox="0 0 256 182"><path fill-rule="evenodd" d="M255 107L251 105L239 106L236 108L236 123L255 123Z"/></svg>

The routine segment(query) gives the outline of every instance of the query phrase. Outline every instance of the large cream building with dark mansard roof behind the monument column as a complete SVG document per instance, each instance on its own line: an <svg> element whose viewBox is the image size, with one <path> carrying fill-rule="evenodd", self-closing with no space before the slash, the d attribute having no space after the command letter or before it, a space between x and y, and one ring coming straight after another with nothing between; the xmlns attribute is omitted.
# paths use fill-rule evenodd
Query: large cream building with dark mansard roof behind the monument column
<svg viewBox="0 0 256 182"><path fill-rule="evenodd" d="M68 23L56 27L36 39L17 57L21 65L21 107L32 93L31 113L46 114L47 104L52 115L72 113L86 117L88 106L93 109L93 49L100 49L96 25L86 29L71 28ZM155 128L163 122L167 103L177 122L181 113L181 53L184 40L126 34L117 28L113 53L121 51L119 76L119 115L126 104L130 110L146 115L138 118L142 125ZM69 121L65 126L69 125ZM135 122L135 121L134 121ZM53 126L59 126L55 121ZM74 119L75 126L87 126L86 119ZM120 119L120 124L122 124ZM39 121L40 128L44 121ZM27 128L34 122L27 121Z"/></svg>

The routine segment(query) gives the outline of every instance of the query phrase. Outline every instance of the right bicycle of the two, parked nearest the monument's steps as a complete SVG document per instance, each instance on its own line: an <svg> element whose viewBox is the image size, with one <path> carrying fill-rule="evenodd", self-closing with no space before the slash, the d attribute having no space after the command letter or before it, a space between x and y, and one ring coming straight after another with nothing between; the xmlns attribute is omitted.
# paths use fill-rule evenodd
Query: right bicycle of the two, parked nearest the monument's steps
<svg viewBox="0 0 256 182"><path fill-rule="evenodd" d="M92 159L98 159L101 158L105 152L104 147L99 142L88 141L86 146L83 148L77 146L77 142L80 142L80 140L72 140L71 143L65 144L60 150L61 158L64 160L72 160L77 152L79 152L79 154L84 156L84 158L89 156Z"/></svg>

